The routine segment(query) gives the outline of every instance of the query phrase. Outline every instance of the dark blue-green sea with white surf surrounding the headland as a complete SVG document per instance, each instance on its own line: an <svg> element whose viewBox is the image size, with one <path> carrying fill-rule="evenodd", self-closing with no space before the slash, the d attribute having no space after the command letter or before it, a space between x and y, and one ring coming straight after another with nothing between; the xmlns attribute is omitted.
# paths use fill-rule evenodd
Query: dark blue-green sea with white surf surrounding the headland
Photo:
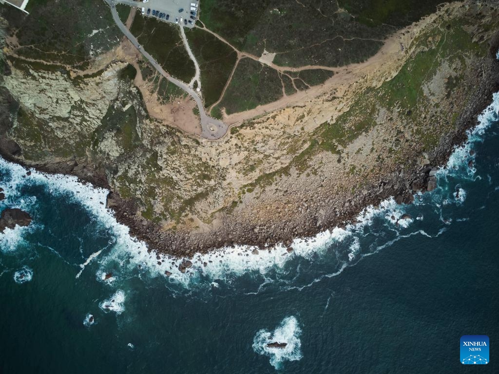
<svg viewBox="0 0 499 374"><path fill-rule="evenodd" d="M387 200L292 254L195 256L185 274L127 235L106 191L0 161L0 208L33 216L0 234L0 372L498 373L494 105L415 204ZM481 334L490 364L469 370L460 337Z"/></svg>

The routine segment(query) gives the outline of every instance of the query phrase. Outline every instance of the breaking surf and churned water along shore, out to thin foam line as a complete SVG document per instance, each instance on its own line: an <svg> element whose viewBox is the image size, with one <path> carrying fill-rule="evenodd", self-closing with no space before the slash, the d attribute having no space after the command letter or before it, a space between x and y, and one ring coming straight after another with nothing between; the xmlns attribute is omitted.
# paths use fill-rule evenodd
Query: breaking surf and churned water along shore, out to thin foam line
<svg viewBox="0 0 499 374"><path fill-rule="evenodd" d="M362 258L409 235L431 237L445 232L445 226L432 229L423 226L423 222L427 217L439 214L444 225L451 224L452 217L446 206L463 204L467 197L464 186L457 186L455 180L458 177L468 181L480 178L475 175L476 169L471 163L475 156L471 151L475 143L483 141L490 124L497 121L498 109L499 93L496 93L493 103L479 116L478 125L468 132L468 142L456 147L447 165L438 170L438 187L431 193L416 194L413 205L398 205L393 198L388 198L377 207L366 207L356 217L357 223L326 230L314 237L297 238L290 245L292 249L283 244L263 250L245 245L224 247L209 254L196 253L188 268L180 266L185 259L148 251L144 242L131 237L129 228L118 223L112 211L106 208L106 189L81 184L71 176L48 175L34 170L28 176L22 167L0 159L0 173L4 175L0 187L6 194L6 201L0 204L18 206L34 217L30 226L5 229L0 234L1 251L15 252L16 248L27 245L25 237L29 233L43 227L36 219L36 196L23 194L26 187L37 186L50 195L82 206L97 222L99 234L104 237L102 246L87 251L80 248L81 253L68 260L75 266L76 277L89 271L96 279L103 280L105 274L112 273L113 285L123 287L120 279L129 278L130 274L139 277L147 274L153 278L163 277L172 290L205 285L214 291L236 288L238 277L250 273L258 281L256 292L272 283L285 284L286 288L290 285L303 287L335 276L345 267L355 265ZM425 206L428 208L424 209ZM106 283L110 284L111 280ZM116 300L124 300L124 297L124 292L118 291L111 302L106 301L109 308L105 309L121 313L122 301Z"/></svg>

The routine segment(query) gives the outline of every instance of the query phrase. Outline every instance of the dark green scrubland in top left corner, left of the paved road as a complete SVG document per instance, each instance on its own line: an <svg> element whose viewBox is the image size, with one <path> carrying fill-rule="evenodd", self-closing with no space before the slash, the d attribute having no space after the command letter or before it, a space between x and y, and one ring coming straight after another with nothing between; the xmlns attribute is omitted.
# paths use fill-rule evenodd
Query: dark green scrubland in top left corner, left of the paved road
<svg viewBox="0 0 499 374"><path fill-rule="evenodd" d="M16 50L20 56L83 69L92 53L107 51L119 42L121 31L103 1L31 0L27 10L29 15L11 6L1 9L24 46Z"/></svg>

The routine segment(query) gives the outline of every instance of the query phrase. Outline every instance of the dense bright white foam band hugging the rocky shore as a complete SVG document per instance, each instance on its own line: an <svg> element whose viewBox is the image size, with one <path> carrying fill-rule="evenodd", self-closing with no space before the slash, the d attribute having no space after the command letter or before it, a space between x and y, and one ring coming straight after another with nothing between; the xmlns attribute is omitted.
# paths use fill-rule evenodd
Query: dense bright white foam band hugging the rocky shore
<svg viewBox="0 0 499 374"><path fill-rule="evenodd" d="M472 143L481 141L481 136L490 125L490 122L497 119L498 108L499 93L496 93L494 94L493 103L479 116L478 125L468 132L469 142L464 146L456 147L447 167L442 168L437 173L438 178L446 178L450 171L462 168L463 165L467 166ZM64 194L68 199L78 201L89 213L98 219L104 228L114 233L116 241L110 252L101 256L99 261L101 268L98 274L101 274L107 268L108 264L113 262L123 268L136 268L140 266L141 268L146 268L152 275L156 276L165 275L165 272L169 272L172 273L168 277L171 282L179 282L186 286L192 282L196 282L201 275L208 276L214 280L224 279L229 273L239 275L248 271L256 271L265 274L271 268L282 269L291 258L301 256L312 259L315 253L321 254L331 243L342 241L360 232L364 226L372 222L375 216L384 216L387 221L394 225L398 223L402 228L408 227L413 222L410 218L401 219L404 213L404 206L397 205L393 198L389 198L382 201L379 207L366 207L356 217L358 222L347 225L346 229L336 227L333 230L320 232L311 238L293 240L291 244L293 251L290 253L282 243L264 250L244 245L235 248L224 247L210 254L196 253L192 258L193 266L187 269L185 273L182 273L179 270L179 265L183 259L160 255L160 264L158 265L155 251L148 253L144 242L130 237L129 228L119 224L112 211L105 207L108 193L106 189L93 187L90 184L82 185L76 177L45 175L34 170L31 170L29 177L26 177L25 170L22 167L8 163L2 159L0 159L0 167L8 169L12 176L10 181L2 183L2 186L5 184L9 185L6 186L7 188L4 188L5 190L9 190L8 187L10 187L10 190L16 190L19 186L31 181L44 184L51 193ZM467 168L467 170L469 169ZM470 175L473 175L473 173L474 170L469 170ZM435 195L437 194L435 193ZM26 203L30 202L27 201ZM418 198L416 198L415 203L416 205L418 204ZM23 229L25 227L16 227L14 231ZM4 248L14 248L18 244L16 240L18 241L20 236L19 233L12 233L6 229L5 234L0 235L2 250L4 251ZM341 268L344 268L344 264Z"/></svg>

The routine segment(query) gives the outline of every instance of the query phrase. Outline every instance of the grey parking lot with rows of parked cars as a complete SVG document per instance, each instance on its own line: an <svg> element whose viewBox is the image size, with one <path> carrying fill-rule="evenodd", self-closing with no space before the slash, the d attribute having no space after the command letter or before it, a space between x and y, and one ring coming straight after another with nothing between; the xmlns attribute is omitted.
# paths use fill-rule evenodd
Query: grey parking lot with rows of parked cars
<svg viewBox="0 0 499 374"><path fill-rule="evenodd" d="M137 1L137 4L140 2ZM158 18L165 22L180 24L192 28L196 23L199 10L198 0L149 0L142 5L144 15Z"/></svg>

